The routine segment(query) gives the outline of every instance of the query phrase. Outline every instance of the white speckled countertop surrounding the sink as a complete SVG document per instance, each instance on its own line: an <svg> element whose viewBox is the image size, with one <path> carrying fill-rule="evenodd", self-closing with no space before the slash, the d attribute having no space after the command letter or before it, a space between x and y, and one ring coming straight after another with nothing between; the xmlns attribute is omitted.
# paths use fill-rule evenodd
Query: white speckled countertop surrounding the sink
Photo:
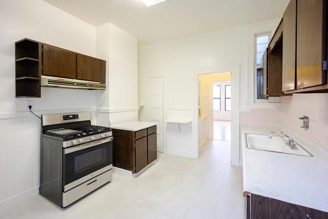
<svg viewBox="0 0 328 219"><path fill-rule="evenodd" d="M245 133L284 131L313 157L249 149ZM328 212L328 152L284 127L242 126L243 191Z"/></svg>

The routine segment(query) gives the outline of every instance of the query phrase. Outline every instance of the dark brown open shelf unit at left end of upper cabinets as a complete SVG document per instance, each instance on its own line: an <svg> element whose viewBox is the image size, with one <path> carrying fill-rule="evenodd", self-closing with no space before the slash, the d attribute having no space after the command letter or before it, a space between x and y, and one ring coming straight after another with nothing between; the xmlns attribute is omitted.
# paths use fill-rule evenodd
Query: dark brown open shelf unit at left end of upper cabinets
<svg viewBox="0 0 328 219"><path fill-rule="evenodd" d="M15 43L16 97L40 97L41 52L31 39Z"/></svg>

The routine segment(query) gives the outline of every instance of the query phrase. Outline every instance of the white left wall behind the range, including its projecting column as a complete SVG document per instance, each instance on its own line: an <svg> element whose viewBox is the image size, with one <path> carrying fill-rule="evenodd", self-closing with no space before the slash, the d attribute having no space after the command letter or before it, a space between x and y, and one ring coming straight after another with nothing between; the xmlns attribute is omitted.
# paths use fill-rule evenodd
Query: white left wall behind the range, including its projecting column
<svg viewBox="0 0 328 219"><path fill-rule="evenodd" d="M112 114L136 120L137 41L111 24L96 30L41 0L2 0L0 32L1 211L39 192L40 120L25 101L38 115L91 111L93 124L107 126ZM105 59L107 90L41 88L40 98L15 98L14 43L22 38Z"/></svg>

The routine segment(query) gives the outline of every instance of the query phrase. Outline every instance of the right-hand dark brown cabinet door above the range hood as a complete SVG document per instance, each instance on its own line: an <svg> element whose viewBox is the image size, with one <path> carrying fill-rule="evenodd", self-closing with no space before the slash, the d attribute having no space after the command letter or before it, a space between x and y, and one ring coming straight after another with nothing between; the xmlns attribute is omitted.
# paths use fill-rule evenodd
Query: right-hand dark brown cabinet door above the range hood
<svg viewBox="0 0 328 219"><path fill-rule="evenodd" d="M77 79L100 81L100 61L98 58L77 54Z"/></svg>

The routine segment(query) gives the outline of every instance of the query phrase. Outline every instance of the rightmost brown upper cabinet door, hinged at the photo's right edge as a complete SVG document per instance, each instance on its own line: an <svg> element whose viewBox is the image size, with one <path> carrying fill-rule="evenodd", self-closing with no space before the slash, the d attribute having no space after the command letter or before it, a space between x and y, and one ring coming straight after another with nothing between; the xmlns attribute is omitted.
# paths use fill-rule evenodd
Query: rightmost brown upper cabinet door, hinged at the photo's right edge
<svg viewBox="0 0 328 219"><path fill-rule="evenodd" d="M297 1L297 89L322 85L326 82L326 72L322 71L322 61L326 58L324 1Z"/></svg>

